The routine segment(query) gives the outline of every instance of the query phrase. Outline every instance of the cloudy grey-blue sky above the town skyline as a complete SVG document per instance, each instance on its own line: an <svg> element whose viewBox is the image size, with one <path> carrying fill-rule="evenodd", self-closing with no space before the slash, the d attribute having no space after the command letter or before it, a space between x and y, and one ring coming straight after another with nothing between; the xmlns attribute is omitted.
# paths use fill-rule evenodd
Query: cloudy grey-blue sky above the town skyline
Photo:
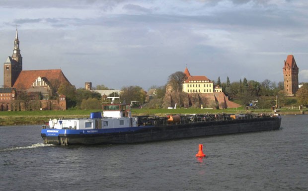
<svg viewBox="0 0 308 191"><path fill-rule="evenodd" d="M76 88L147 91L185 67L278 83L288 55L308 82L307 10L307 0L1 0L0 62L17 27L23 70L62 69Z"/></svg>

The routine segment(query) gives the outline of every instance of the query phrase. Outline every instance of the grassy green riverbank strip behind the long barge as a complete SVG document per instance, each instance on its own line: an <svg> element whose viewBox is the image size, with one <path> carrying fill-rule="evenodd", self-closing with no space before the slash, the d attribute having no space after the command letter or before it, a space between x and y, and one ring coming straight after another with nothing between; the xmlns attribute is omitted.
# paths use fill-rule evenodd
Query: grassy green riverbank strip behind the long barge
<svg viewBox="0 0 308 191"><path fill-rule="evenodd" d="M0 112L0 126L16 126L16 125L44 125L50 119L76 119L88 118L91 112L97 110L66 110L66 111L10 111ZM179 109L133 109L132 115L176 115L176 114L218 114L218 113L231 113L231 114L245 114L245 113L273 113L272 110L239 110L239 109L226 109L226 110L213 110L213 109L195 109L195 108L179 108ZM308 111L299 110L282 110L277 112L280 115L301 115L308 114Z"/></svg>

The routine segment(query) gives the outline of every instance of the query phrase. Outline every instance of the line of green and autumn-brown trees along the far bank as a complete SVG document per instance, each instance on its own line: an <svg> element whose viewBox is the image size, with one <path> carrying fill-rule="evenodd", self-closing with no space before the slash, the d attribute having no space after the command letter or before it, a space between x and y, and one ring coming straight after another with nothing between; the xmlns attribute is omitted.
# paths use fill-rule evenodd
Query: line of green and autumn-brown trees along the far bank
<svg viewBox="0 0 308 191"><path fill-rule="evenodd" d="M119 96L122 103L130 104L132 101L137 102L139 105L144 105L148 108L165 108L164 97L166 90L171 88L172 91L182 92L183 82L186 80L186 75L177 71L169 75L167 83L162 86L153 85L150 89L155 89L155 94L148 96L140 86L124 86L120 90L120 95L107 95ZM262 82L247 80L245 77L238 81L231 82L229 76L225 82L221 81L218 77L214 81L215 85L219 85L229 100L234 101L242 106L247 106L252 100L258 100L259 109L271 108L273 105L280 107L308 105L308 83L302 83L303 86L296 93L296 97L287 97L284 95L284 83L274 82L265 79ZM94 90L109 90L105 85L97 85ZM150 90L149 89L149 90ZM148 90L148 91L149 91ZM65 95L67 100L68 109L101 109L101 102L104 101L101 94L95 91L85 90L85 88L76 89L75 86L70 84L61 84L56 92L57 95ZM58 96L53 96L57 99ZM20 94L20 100L28 100L26 94ZM42 96L40 96L42 99ZM30 108L30 107L29 107Z"/></svg>

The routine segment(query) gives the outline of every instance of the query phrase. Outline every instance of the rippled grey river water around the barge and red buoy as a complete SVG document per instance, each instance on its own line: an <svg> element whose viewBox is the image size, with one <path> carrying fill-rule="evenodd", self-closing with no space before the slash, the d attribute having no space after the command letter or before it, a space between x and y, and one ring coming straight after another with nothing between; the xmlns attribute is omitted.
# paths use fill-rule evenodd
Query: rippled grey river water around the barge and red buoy
<svg viewBox="0 0 308 191"><path fill-rule="evenodd" d="M290 115L274 131L99 146L0 127L0 191L307 191L307 124Z"/></svg>

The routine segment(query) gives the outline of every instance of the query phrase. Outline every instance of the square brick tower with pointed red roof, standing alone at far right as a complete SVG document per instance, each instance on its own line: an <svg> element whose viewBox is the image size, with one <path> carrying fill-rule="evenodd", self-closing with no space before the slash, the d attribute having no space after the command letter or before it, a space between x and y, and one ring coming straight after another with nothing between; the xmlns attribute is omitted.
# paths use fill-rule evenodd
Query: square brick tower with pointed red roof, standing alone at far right
<svg viewBox="0 0 308 191"><path fill-rule="evenodd" d="M299 67L296 65L293 55L288 55L283 67L285 94L294 96L299 89Z"/></svg>

